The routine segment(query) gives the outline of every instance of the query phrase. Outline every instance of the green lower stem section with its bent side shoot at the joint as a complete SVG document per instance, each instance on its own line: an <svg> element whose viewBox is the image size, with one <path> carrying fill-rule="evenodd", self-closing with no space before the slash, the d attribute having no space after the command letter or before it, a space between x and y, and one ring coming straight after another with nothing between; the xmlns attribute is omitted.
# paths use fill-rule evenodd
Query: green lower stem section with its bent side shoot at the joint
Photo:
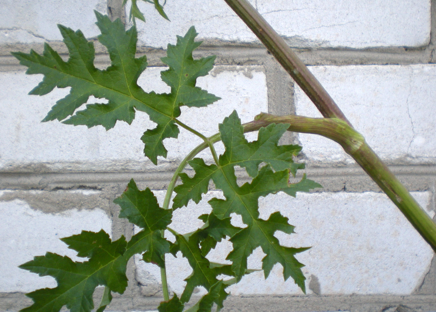
<svg viewBox="0 0 436 312"><path fill-rule="evenodd" d="M255 131L272 122L289 123L289 131L318 134L341 144L345 152L368 173L436 252L436 224L378 158L360 133L337 118L275 116L264 113L257 115L255 121L245 124L244 129L246 132Z"/></svg>

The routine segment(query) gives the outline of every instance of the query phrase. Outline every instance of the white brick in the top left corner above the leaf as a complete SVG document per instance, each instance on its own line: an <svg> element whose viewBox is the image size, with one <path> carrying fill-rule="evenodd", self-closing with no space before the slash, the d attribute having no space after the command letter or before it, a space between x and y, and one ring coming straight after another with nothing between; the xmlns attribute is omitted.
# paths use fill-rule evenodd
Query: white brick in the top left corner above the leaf
<svg viewBox="0 0 436 312"><path fill-rule="evenodd" d="M100 34L94 10L106 14L105 0L2 0L0 44L62 40L56 24L80 29L87 38Z"/></svg>

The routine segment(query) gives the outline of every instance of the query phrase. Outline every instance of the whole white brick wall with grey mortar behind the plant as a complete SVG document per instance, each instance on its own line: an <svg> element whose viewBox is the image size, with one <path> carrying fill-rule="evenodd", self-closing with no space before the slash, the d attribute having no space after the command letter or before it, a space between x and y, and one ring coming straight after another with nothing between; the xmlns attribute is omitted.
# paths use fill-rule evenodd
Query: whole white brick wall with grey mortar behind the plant
<svg viewBox="0 0 436 312"><path fill-rule="evenodd" d="M250 2L296 48L354 127L433 217L436 1ZM41 52L42 43L49 41L65 53L57 23L95 38L92 10L109 12L130 27L121 3L0 3L0 311L22 309L30 303L25 292L55 286L52 278L37 277L17 265L45 251L72 257L58 238L81 229L105 229L115 238L129 238L135 229L116 217L119 208L113 199L133 177L162 201L178 162L199 143L187 132L181 132L181 140L167 139L168 157L154 166L142 153L140 137L152 125L145 114L136 114L131 126L119 122L108 132L102 127L40 123L68 90L28 96L41 77L26 76L9 52ZM175 43L175 35L183 35L191 25L204 41L196 56L218 55L211 74L198 83L222 99L194 109L194 114L182 114L187 125L211 135L233 109L243 122L261 111L320 116L224 1L167 0L171 22L151 5L140 7L147 22L138 21L139 52L146 52L150 63L139 81L144 90L167 90L159 79L162 48ZM128 16L129 8L126 12ZM107 66L105 50L96 44L96 51L97 66ZM436 311L434 253L399 210L336 143L303 134L288 134L285 140L303 146L305 172L324 188L295 199L281 194L263 198L261 216L281 207L297 232L278 236L281 242L313 246L298 255L306 264L307 295L291 279L283 282L277 265L266 281L259 272L232 286L223 311ZM219 196L216 193L210 191L206 199ZM195 206L177 210L175 229L189 230L195 224L187 218L195 220L210 209L206 201ZM229 250L230 245L221 244L212 256L220 259ZM255 250L249 263L259 267L262 257L262 251ZM180 292L183 278L190 274L187 261L169 256L167 262L170 289ZM186 274L181 277L180 272ZM128 290L115 296L108 310L155 309L161 301L157 267L135 259L127 274Z"/></svg>

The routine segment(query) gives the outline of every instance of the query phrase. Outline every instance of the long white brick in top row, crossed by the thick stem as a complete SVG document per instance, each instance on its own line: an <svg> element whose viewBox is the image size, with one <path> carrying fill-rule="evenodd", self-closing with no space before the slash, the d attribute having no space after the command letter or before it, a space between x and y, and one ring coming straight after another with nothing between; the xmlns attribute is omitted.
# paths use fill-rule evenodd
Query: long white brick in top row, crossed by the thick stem
<svg viewBox="0 0 436 312"><path fill-rule="evenodd" d="M250 0L293 46L367 48L421 46L430 38L430 1L393 0ZM146 24L137 23L143 45L165 48L194 25L199 38L257 42L224 1L167 1L165 21L146 3L138 3ZM129 14L129 7L126 9Z"/></svg>

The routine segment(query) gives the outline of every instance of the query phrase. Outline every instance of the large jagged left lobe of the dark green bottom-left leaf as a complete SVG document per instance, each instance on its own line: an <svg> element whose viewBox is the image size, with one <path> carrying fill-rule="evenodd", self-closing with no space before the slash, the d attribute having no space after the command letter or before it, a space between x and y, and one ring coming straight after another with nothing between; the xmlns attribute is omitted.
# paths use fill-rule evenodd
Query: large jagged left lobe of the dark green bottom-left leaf
<svg viewBox="0 0 436 312"><path fill-rule="evenodd" d="M123 236L112 242L103 230L98 233L82 231L62 241L78 251L79 257L89 257L89 260L73 262L68 257L46 253L20 265L40 276L52 276L58 282L56 288L38 289L27 294L34 304L21 311L59 311L64 305L71 312L90 311L94 307L92 294L98 285L120 294L126 290L128 259L123 256L126 250Z"/></svg>

